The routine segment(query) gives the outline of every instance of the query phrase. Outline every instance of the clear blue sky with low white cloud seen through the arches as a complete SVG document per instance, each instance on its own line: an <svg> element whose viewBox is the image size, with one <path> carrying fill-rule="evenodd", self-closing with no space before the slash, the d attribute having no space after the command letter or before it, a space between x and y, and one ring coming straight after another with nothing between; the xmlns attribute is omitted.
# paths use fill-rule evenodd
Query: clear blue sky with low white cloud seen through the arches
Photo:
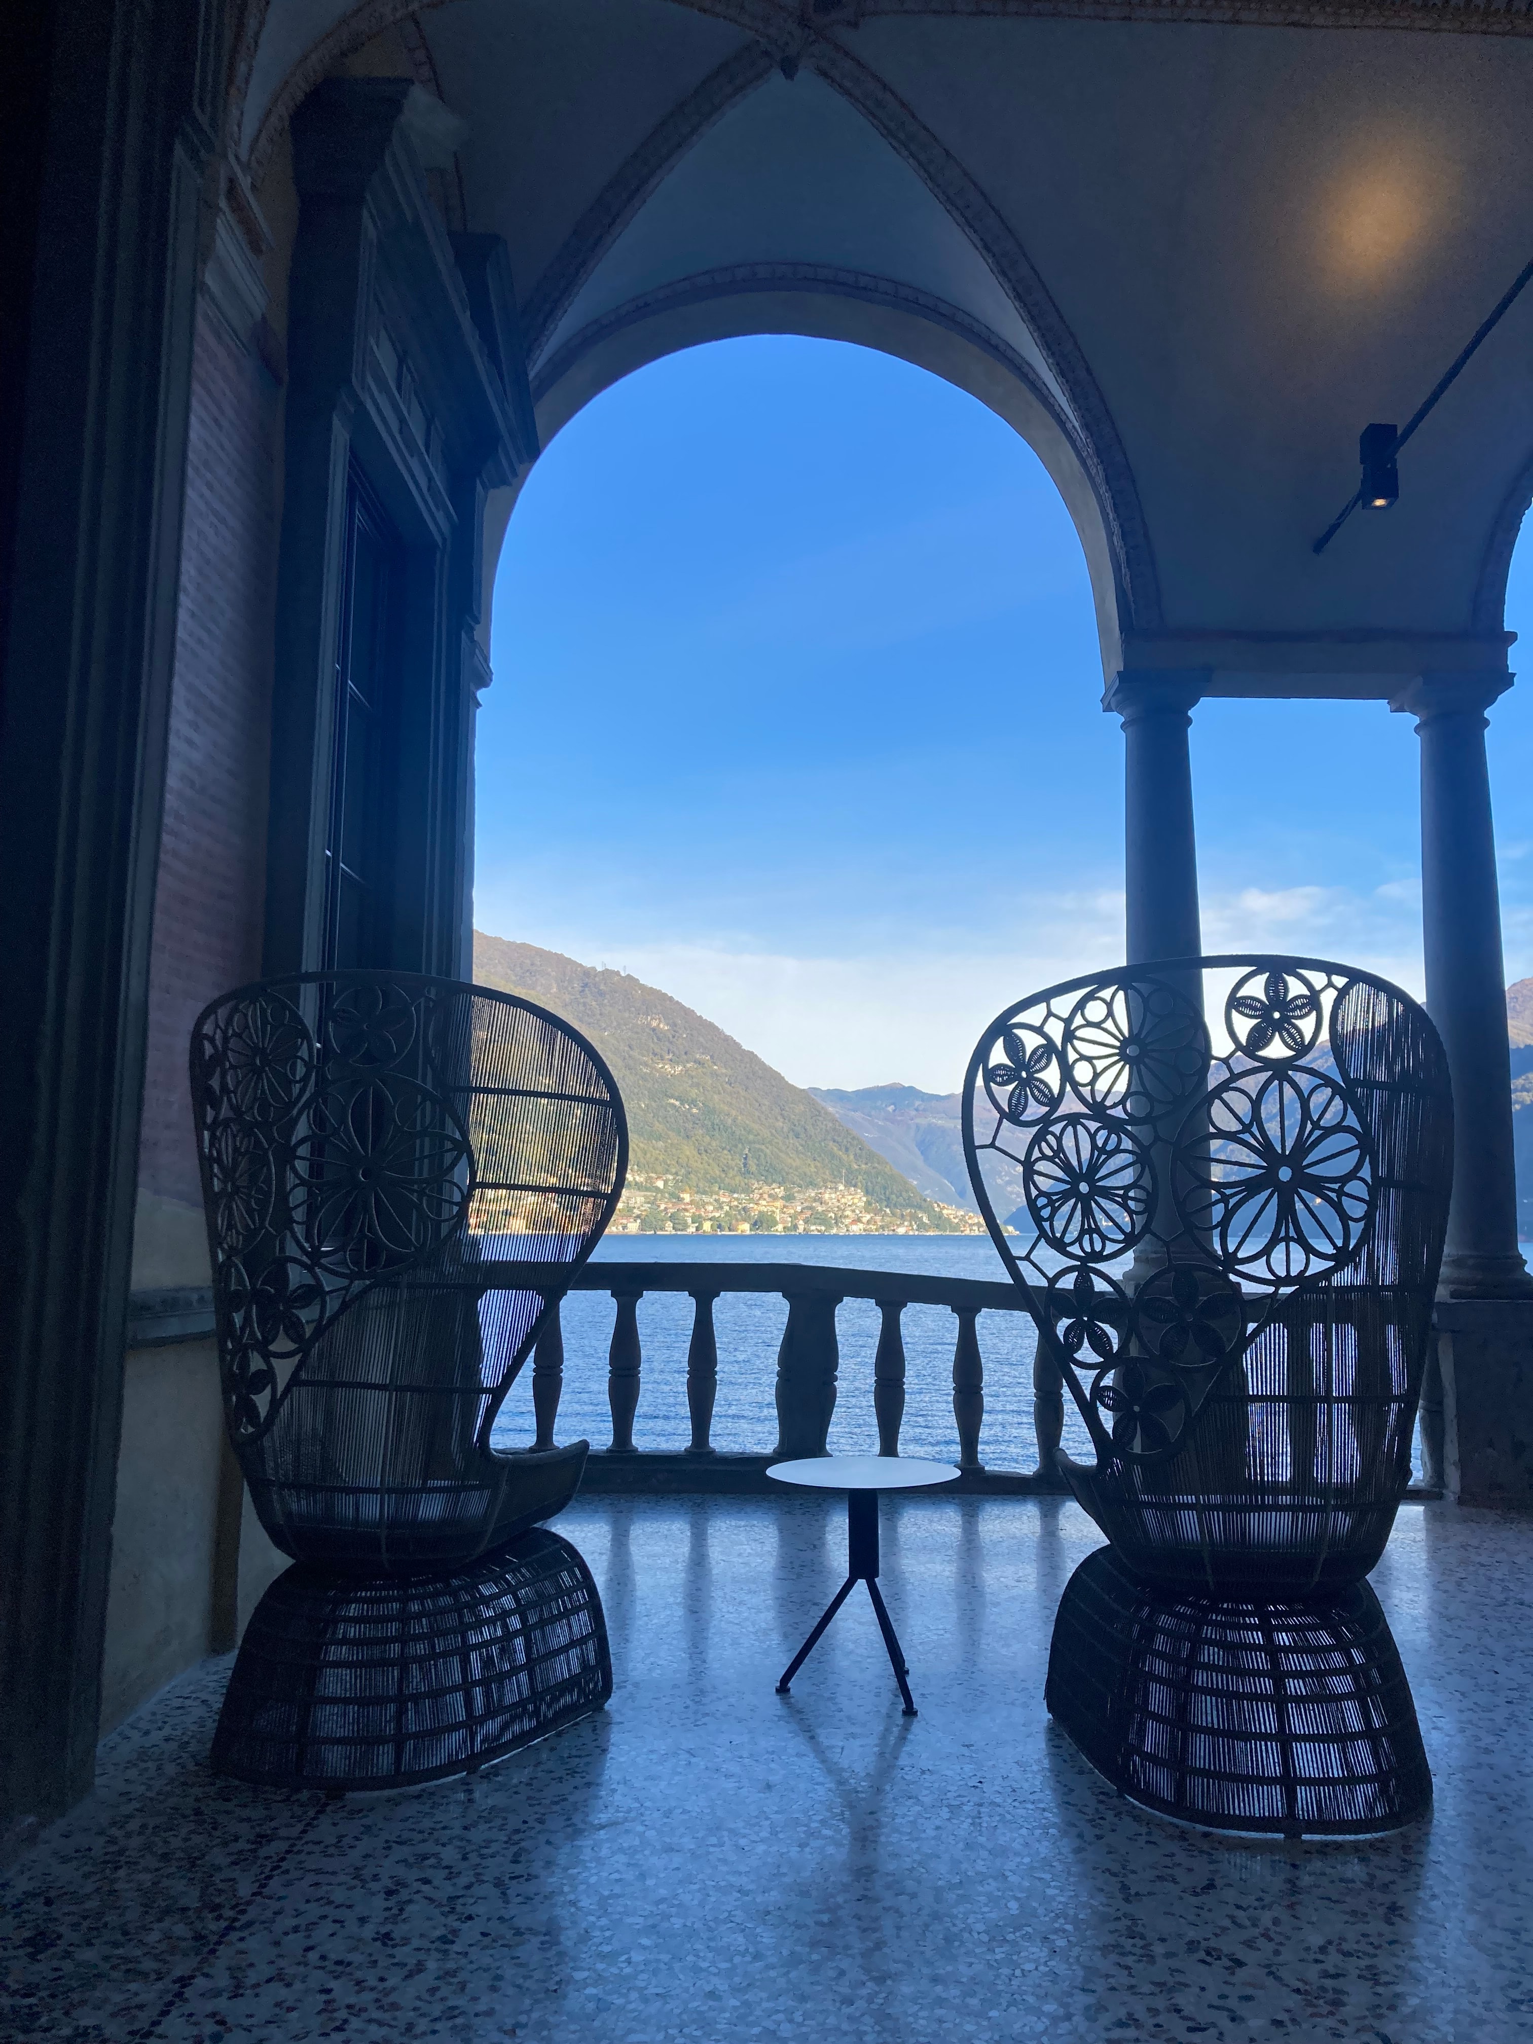
<svg viewBox="0 0 1533 2044"><path fill-rule="evenodd" d="M1506 621L1533 634L1527 542ZM625 378L521 493L491 652L476 924L638 973L799 1085L946 1091L1006 1002L1122 957L1079 542L1032 450L922 370L771 337ZM1490 728L1508 977L1519 695ZM1410 719L1210 701L1192 744L1208 948L1419 991Z"/></svg>

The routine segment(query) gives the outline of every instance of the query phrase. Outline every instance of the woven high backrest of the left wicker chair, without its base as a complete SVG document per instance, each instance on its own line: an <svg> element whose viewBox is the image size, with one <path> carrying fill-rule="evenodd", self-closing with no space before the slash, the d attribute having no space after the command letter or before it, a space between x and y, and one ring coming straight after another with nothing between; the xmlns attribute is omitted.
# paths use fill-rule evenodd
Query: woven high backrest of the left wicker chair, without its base
<svg viewBox="0 0 1533 2044"><path fill-rule="evenodd" d="M491 987L300 973L198 1016L192 1106L225 1414L268 1531L413 1525L421 1496L482 1515L546 1267L591 1255L623 1188L603 1059Z"/></svg>

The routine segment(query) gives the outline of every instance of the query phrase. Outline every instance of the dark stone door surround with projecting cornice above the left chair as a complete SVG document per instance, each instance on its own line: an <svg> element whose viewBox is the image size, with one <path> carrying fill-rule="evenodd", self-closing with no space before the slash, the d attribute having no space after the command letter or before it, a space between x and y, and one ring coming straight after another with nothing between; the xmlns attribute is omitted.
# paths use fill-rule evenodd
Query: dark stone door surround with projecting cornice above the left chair
<svg viewBox="0 0 1533 2044"><path fill-rule="evenodd" d="M507 392L519 341L505 247L450 241L421 172L419 110L409 80L331 78L292 121L300 223L272 719L272 973L319 965L325 940L352 470L403 556L388 957L376 963L464 965L476 679L464 642L480 613L484 491L509 482L527 448Z"/></svg>

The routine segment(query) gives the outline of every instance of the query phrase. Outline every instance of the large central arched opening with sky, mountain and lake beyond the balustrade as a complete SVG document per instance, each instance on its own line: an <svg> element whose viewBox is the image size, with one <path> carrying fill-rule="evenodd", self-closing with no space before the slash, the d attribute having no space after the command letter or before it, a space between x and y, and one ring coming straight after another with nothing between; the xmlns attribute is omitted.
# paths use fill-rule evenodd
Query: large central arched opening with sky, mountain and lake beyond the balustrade
<svg viewBox="0 0 1533 2044"><path fill-rule="evenodd" d="M548 446L493 615L476 977L611 1030L634 1161L609 1253L987 1271L983 1237L934 1233L969 1204L973 1040L1014 989L1122 948L1122 740L1038 456L889 352L771 333L668 352ZM905 1194L822 1157L779 1073L830 1091L818 1139L871 1141ZM691 1312L640 1306L640 1447L677 1445ZM607 1300L562 1314L570 1357L605 1349ZM719 1298L715 1322L732 1369L713 1441L746 1451L771 1421L781 1300ZM869 1445L879 1314L848 1300L838 1327L834 1439ZM903 1343L901 1439L955 1453L953 1314L912 1306ZM1020 1322L987 1329L993 1451L1018 1464L1030 1363ZM601 1439L605 1396L570 1367L560 1423ZM529 1425L523 1396L507 1441Z"/></svg>

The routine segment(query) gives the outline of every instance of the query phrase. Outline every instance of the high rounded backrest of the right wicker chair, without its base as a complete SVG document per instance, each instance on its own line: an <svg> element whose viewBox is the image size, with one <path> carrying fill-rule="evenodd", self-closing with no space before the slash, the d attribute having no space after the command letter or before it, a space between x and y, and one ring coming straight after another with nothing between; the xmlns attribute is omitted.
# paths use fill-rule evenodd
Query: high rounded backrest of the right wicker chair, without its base
<svg viewBox="0 0 1533 2044"><path fill-rule="evenodd" d="M989 1024L963 1141L1100 1470L1398 1498L1453 1155L1416 1002L1290 957L1071 979Z"/></svg>

